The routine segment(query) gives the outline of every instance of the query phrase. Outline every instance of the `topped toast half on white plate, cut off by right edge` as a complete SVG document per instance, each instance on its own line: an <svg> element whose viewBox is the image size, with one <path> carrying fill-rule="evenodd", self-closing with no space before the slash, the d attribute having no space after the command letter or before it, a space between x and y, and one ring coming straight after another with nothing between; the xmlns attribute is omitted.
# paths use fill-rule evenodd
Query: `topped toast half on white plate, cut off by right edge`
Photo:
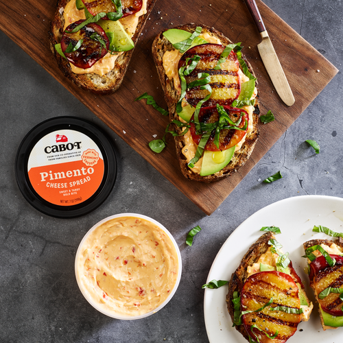
<svg viewBox="0 0 343 343"><path fill-rule="evenodd" d="M304 249L322 328L343 327L343 239L312 239L304 243Z"/></svg>

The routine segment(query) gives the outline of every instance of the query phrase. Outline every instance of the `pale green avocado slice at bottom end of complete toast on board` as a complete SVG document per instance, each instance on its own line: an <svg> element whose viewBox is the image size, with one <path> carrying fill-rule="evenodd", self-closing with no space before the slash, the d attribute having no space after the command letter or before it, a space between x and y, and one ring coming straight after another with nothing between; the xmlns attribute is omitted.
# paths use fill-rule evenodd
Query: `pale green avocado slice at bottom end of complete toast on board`
<svg viewBox="0 0 343 343"><path fill-rule="evenodd" d="M222 170L231 161L231 158L233 157L234 153L235 153L235 146L230 147L228 150L224 150L222 152L213 152L209 150L204 150L204 156L202 157L200 175L207 176L207 175L215 174L217 171ZM219 157L219 159L215 161L213 160L213 157L215 158Z"/></svg>

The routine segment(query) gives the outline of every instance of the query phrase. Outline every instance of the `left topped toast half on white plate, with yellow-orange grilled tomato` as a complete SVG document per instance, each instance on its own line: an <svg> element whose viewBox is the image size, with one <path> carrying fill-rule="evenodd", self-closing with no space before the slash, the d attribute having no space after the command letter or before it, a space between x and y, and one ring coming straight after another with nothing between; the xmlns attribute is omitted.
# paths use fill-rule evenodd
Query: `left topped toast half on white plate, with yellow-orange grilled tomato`
<svg viewBox="0 0 343 343"><path fill-rule="evenodd" d="M226 302L233 325L249 342L283 343L313 305L288 253L271 232L244 255L228 286Z"/></svg>

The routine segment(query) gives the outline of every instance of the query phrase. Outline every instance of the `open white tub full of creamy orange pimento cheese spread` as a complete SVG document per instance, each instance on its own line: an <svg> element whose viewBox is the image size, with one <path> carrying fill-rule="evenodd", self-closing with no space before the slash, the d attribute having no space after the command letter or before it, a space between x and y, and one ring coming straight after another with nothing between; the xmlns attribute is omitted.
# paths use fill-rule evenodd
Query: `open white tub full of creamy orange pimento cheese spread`
<svg viewBox="0 0 343 343"><path fill-rule="evenodd" d="M160 223L122 213L95 224L75 257L75 276L88 303L112 318L150 316L174 296L182 261L174 237Z"/></svg>

